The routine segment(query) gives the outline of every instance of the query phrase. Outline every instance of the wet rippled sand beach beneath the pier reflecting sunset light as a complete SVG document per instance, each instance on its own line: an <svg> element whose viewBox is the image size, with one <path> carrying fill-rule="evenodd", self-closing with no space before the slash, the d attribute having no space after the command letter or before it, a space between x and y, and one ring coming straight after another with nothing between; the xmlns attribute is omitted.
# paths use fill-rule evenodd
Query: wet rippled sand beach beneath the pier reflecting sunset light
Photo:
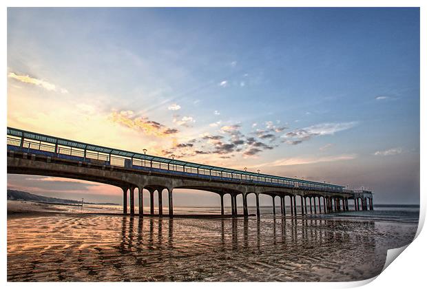
<svg viewBox="0 0 427 289"><path fill-rule="evenodd" d="M8 217L8 281L355 281L417 224L50 213Z"/></svg>

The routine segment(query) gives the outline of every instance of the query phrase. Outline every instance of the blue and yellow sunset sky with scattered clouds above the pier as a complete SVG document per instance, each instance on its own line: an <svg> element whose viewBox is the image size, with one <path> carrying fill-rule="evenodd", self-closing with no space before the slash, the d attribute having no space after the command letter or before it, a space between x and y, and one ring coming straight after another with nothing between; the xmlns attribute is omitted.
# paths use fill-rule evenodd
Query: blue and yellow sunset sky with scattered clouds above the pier
<svg viewBox="0 0 427 289"><path fill-rule="evenodd" d="M10 127L419 204L418 8L8 8L7 69ZM63 178L8 188L122 200Z"/></svg>

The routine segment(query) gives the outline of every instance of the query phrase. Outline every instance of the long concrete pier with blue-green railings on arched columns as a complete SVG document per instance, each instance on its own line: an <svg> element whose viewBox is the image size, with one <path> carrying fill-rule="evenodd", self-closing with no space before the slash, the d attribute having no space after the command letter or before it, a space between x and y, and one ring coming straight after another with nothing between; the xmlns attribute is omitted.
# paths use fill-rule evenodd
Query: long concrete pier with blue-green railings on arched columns
<svg viewBox="0 0 427 289"><path fill-rule="evenodd" d="M278 175L240 171L123 151L96 144L56 138L41 133L8 127L8 173L46 175L100 182L118 186L123 191L124 215L155 215L154 194L158 195L158 214L163 216L163 191L167 191L169 217L174 216L174 189L196 189L216 193L220 212L224 213L224 196L231 196L231 216L249 215L248 195L256 197L256 215L260 217L260 195L269 195L274 215L310 215L373 210L373 193L348 190L345 186L300 180ZM149 212L143 210L143 193L149 193ZM138 196L138 212L135 210ZM237 199L242 197L242 214ZM128 211L129 201L129 211ZM276 212L277 202L280 212ZM139 209L141 208L141 209Z"/></svg>

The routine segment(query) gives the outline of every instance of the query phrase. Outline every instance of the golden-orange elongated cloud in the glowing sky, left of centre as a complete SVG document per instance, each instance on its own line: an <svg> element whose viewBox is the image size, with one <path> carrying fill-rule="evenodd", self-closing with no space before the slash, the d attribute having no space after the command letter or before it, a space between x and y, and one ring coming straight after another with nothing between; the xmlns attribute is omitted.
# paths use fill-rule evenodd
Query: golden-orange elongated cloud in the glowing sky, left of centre
<svg viewBox="0 0 427 289"><path fill-rule="evenodd" d="M142 131L147 135L165 137L174 133L178 133L178 129L171 129L159 122L149 120L146 117L134 116L134 111L113 111L108 118L112 122L116 122L119 125L129 127L136 131Z"/></svg>

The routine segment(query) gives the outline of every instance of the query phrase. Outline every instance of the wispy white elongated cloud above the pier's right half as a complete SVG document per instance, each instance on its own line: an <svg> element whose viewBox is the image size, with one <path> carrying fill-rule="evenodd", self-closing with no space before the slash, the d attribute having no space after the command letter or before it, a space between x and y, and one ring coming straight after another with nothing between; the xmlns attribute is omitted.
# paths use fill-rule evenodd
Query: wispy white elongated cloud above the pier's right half
<svg viewBox="0 0 427 289"><path fill-rule="evenodd" d="M355 127L357 122L325 122L311 127L304 127L303 129L295 129L285 133L282 138L291 138L291 140L284 140L288 144L300 144L304 140L309 140L313 136L326 136L333 135L338 131L344 131Z"/></svg>

